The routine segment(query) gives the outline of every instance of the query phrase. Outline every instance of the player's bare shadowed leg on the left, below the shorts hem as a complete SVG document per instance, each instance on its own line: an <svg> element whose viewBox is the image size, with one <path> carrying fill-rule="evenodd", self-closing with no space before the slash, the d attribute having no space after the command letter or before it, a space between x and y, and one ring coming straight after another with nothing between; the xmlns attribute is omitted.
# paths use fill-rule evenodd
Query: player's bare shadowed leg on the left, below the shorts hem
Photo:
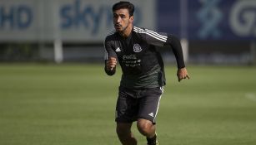
<svg viewBox="0 0 256 145"><path fill-rule="evenodd" d="M136 138L131 132L132 123L117 123L117 133L120 142L123 145L137 145Z"/></svg>

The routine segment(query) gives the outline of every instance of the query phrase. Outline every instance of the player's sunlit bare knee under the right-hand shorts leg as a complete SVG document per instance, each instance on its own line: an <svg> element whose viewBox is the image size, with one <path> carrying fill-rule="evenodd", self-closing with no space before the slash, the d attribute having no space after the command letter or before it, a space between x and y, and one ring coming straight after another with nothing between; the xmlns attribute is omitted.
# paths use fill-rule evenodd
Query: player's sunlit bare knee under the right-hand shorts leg
<svg viewBox="0 0 256 145"><path fill-rule="evenodd" d="M154 125L151 121L146 119L138 119L137 128L144 136L149 136L154 132Z"/></svg>

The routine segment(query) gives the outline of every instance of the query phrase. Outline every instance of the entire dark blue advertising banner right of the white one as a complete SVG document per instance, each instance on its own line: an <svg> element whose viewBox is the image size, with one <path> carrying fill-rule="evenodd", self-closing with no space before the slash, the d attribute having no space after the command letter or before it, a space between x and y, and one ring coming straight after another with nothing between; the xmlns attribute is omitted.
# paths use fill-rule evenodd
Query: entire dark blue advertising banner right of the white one
<svg viewBox="0 0 256 145"><path fill-rule="evenodd" d="M255 0L160 0L158 16L160 31L189 40L256 40Z"/></svg>

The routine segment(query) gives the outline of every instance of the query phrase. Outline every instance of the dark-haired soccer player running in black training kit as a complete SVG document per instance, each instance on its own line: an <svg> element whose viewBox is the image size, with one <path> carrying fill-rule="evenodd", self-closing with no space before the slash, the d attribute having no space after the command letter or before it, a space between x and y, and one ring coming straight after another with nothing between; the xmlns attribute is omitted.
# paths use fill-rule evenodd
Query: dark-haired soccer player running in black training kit
<svg viewBox="0 0 256 145"><path fill-rule="evenodd" d="M133 26L134 6L130 2L113 5L112 31L105 39L104 70L114 75L121 65L123 75L116 105L116 132L123 145L136 145L131 132L134 121L148 145L158 145L156 117L165 85L163 60L156 46L171 46L178 65L178 81L189 79L180 41L173 35Z"/></svg>

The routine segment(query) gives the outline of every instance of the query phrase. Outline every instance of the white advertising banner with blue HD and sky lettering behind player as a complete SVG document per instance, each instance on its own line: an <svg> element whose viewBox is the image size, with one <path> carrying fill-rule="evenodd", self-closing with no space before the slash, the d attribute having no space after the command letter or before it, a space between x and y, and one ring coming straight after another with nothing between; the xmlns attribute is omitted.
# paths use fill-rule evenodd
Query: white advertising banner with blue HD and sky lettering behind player
<svg viewBox="0 0 256 145"><path fill-rule="evenodd" d="M103 41L117 0L1 0L0 41ZM134 24L155 29L155 0L133 0Z"/></svg>

